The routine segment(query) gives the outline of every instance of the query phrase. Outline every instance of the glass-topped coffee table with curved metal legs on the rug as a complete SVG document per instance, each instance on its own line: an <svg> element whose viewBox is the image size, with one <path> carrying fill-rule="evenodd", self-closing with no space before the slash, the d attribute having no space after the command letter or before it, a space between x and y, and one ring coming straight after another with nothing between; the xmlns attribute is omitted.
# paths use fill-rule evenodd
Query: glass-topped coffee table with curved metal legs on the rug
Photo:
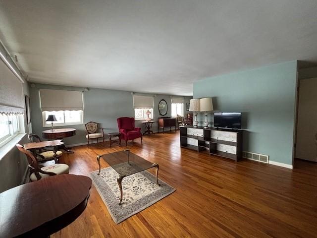
<svg viewBox="0 0 317 238"><path fill-rule="evenodd" d="M117 183L120 189L120 201L118 202L118 205L121 205L122 202L122 179L124 177L139 173L144 170L151 169L153 167L156 168L156 181L157 184L159 184L158 181L158 175L159 175L159 165L157 163L152 163L150 161L147 161L143 159L142 157L133 154L130 152L130 150L122 150L118 152L113 152L109 154L104 155L98 155L97 161L99 164L99 173L100 175L100 159L103 158L108 165L112 167L119 175L117 177Z"/></svg>

